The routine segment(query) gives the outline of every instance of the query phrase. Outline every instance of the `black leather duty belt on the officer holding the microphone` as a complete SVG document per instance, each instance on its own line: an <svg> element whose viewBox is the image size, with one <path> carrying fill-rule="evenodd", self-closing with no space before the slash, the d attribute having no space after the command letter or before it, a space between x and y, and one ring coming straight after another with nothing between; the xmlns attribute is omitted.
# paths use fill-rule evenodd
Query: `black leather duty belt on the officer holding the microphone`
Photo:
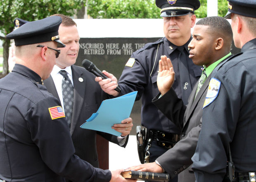
<svg viewBox="0 0 256 182"><path fill-rule="evenodd" d="M171 134L165 131L149 129L149 138L157 142L157 145L170 149L178 141L180 141L180 135Z"/></svg>

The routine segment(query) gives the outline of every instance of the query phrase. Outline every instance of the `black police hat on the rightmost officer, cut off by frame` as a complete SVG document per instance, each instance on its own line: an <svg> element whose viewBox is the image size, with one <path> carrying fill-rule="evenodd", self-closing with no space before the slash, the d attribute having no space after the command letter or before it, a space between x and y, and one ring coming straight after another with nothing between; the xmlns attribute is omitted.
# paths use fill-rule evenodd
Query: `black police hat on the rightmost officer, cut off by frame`
<svg viewBox="0 0 256 182"><path fill-rule="evenodd" d="M228 13L224 18L230 18L231 13L256 18L256 1L228 0Z"/></svg>

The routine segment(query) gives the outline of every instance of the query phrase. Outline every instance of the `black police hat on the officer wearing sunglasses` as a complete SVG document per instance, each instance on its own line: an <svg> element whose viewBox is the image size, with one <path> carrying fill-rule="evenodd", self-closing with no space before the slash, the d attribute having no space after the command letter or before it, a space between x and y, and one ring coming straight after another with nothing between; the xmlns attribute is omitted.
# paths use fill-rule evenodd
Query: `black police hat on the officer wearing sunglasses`
<svg viewBox="0 0 256 182"><path fill-rule="evenodd" d="M31 21L9 33L6 38L14 39L15 46L56 41L58 47L65 47L59 40L58 30L61 23L62 18L59 16L50 16L42 20Z"/></svg>

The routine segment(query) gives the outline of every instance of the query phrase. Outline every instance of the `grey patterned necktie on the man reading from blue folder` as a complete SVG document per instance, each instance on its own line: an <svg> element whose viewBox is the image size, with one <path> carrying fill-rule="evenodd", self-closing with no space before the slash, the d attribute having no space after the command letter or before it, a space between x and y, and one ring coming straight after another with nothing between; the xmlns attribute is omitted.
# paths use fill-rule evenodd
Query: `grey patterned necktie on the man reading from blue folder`
<svg viewBox="0 0 256 182"><path fill-rule="evenodd" d="M71 127L71 118L73 112L73 102L74 102L74 92L73 92L73 85L69 76L67 75L65 70L60 70L59 73L63 76L62 78L62 99L63 99L63 106L66 115L66 121L68 123L69 129Z"/></svg>

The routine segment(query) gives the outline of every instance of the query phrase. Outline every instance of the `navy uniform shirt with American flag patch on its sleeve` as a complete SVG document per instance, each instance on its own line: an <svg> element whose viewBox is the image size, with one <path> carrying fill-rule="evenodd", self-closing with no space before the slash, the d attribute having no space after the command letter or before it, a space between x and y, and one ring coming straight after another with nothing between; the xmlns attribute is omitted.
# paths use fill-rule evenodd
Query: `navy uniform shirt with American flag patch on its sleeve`
<svg viewBox="0 0 256 182"><path fill-rule="evenodd" d="M93 168L74 155L59 101L40 83L38 74L18 64L0 79L0 179L109 181L109 170ZM59 118L50 108L58 109Z"/></svg>

